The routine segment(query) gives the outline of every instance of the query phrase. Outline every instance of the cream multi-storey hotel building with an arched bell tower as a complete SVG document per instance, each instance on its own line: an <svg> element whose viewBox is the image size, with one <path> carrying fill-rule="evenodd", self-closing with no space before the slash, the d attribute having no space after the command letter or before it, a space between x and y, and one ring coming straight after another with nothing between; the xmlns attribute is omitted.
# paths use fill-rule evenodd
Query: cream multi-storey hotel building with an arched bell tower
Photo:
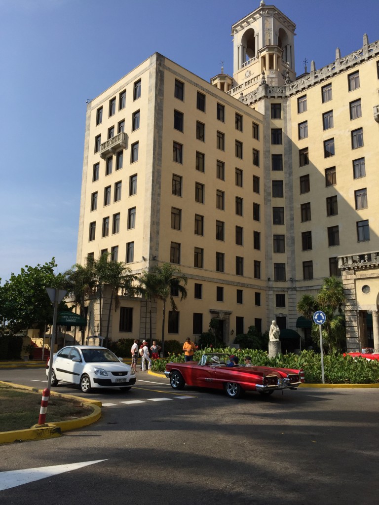
<svg viewBox="0 0 379 505"><path fill-rule="evenodd" d="M211 318L230 343L272 319L307 336L297 302L342 275L348 347L379 347L379 41L296 76L295 24L276 7L231 35L233 77L155 53L88 103L77 261L179 267L188 295L165 329L179 341ZM103 334L96 296L89 314ZM149 334L145 299L121 296L111 338Z"/></svg>

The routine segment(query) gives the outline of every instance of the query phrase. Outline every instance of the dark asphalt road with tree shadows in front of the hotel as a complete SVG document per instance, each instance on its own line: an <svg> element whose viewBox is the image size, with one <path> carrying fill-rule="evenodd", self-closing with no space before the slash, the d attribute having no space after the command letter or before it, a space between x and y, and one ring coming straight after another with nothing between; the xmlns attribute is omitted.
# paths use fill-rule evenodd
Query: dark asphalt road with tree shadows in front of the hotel
<svg viewBox="0 0 379 505"><path fill-rule="evenodd" d="M35 381L44 373L1 370L0 380L43 388ZM127 393L90 397L113 404L98 423L3 445L0 470L105 461L0 491L2 504L378 501L378 389L299 388L233 400L218 391L173 391L165 378L140 373Z"/></svg>

